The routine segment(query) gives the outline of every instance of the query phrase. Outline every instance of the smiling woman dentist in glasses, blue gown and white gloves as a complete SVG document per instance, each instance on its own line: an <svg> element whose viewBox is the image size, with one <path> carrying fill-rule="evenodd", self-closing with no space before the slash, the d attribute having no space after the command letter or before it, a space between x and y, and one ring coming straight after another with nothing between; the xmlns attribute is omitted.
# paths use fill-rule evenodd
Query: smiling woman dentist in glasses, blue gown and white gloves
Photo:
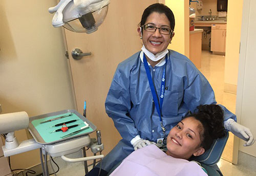
<svg viewBox="0 0 256 176"><path fill-rule="evenodd" d="M87 175L106 175L132 151L156 143L201 104L216 104L209 82L184 55L168 50L175 33L172 10L163 4L148 6L137 29L141 51L119 63L105 101L106 113L114 121L121 139ZM224 126L254 143L250 129L224 111ZM101 167L101 169L99 169Z"/></svg>

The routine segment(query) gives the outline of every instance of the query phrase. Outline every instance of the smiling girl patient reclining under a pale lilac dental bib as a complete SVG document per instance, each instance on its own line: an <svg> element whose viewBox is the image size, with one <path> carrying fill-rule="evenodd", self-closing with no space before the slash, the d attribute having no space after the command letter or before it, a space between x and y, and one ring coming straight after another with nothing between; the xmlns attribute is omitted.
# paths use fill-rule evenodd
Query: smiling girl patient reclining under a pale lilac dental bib
<svg viewBox="0 0 256 176"><path fill-rule="evenodd" d="M207 175L191 156L200 156L214 139L225 136L223 111L218 105L200 105L173 127L166 139L166 152L148 145L127 156L110 174L116 175Z"/></svg>

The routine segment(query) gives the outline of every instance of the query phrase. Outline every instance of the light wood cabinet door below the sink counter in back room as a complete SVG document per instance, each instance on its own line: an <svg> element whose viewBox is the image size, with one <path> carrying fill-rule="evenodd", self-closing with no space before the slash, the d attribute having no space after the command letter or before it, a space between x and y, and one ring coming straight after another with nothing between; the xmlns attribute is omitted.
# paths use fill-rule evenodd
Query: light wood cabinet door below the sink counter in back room
<svg viewBox="0 0 256 176"><path fill-rule="evenodd" d="M225 53L225 51L226 51L226 24L211 24L210 51Z"/></svg>

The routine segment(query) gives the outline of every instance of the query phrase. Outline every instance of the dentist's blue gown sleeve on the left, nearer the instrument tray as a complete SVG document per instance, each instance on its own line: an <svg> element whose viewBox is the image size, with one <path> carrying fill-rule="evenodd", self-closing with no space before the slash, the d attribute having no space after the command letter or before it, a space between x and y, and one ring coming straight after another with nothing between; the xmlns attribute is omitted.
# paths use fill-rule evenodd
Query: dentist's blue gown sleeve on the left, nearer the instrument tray
<svg viewBox="0 0 256 176"><path fill-rule="evenodd" d="M130 142L139 135L139 131L129 114L131 109L129 87L130 73L124 73L118 67L106 97L105 109L108 116L114 121L121 137Z"/></svg>

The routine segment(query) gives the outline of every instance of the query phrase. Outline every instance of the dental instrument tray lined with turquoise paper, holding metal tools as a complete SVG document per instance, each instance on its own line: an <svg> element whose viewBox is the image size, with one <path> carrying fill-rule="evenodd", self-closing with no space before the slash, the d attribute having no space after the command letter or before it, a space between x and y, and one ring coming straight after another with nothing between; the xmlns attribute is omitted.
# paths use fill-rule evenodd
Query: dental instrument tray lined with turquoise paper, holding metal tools
<svg viewBox="0 0 256 176"><path fill-rule="evenodd" d="M53 130L57 130L63 126L55 126L59 123L65 123L73 120L73 123L69 123L67 126L76 125L67 131L61 130L55 133L50 133ZM93 133L96 130L96 126L90 122L87 118L79 114L76 110L68 109L54 113L43 114L29 118L29 132L39 144L54 144L62 141L66 141L73 138L86 136ZM82 129L82 130L81 130ZM63 136L68 136L63 138Z"/></svg>

